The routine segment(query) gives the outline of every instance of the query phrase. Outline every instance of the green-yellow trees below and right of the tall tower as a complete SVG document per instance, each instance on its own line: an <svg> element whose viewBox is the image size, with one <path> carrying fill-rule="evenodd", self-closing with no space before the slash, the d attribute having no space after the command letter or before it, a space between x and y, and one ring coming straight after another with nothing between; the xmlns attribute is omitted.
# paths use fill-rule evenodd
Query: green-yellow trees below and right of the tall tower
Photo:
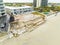
<svg viewBox="0 0 60 45"><path fill-rule="evenodd" d="M50 10L60 11L60 6L38 7L38 8L34 8L34 10L39 12L50 12Z"/></svg>

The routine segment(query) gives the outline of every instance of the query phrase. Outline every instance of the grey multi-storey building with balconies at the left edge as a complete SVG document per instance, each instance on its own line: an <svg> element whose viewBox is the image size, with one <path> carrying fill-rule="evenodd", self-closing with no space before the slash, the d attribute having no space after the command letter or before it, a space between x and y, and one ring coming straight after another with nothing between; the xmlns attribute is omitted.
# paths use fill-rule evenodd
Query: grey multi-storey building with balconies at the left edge
<svg viewBox="0 0 60 45"><path fill-rule="evenodd" d="M5 15L3 0L0 0L0 31L8 30L6 19L7 19L7 15Z"/></svg>

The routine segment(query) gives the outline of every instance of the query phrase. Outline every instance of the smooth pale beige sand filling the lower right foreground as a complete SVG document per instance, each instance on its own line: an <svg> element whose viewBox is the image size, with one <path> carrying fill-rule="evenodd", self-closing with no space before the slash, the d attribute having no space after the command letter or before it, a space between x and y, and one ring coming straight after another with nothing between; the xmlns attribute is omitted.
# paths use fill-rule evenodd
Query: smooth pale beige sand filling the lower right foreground
<svg viewBox="0 0 60 45"><path fill-rule="evenodd" d="M60 14L49 18L34 31L7 39L0 45L60 45Z"/></svg>

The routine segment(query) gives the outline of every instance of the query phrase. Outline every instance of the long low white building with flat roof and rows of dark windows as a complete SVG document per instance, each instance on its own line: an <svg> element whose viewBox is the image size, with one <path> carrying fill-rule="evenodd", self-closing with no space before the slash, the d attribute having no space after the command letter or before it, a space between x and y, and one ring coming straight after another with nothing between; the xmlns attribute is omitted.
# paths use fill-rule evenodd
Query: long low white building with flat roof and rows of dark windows
<svg viewBox="0 0 60 45"><path fill-rule="evenodd" d="M22 7L5 6L5 9L6 9L6 13L8 14L13 13L13 15L25 14L33 11L33 8L30 6L22 6Z"/></svg>

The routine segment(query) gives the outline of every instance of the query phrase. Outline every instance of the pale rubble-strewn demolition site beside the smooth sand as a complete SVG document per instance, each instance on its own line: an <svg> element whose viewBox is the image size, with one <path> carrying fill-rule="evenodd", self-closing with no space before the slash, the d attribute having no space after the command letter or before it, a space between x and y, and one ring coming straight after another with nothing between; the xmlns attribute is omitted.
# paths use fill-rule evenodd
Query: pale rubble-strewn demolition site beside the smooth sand
<svg viewBox="0 0 60 45"><path fill-rule="evenodd" d="M37 26L45 22L45 17L37 16L33 14L29 15L15 15L15 21L10 25L10 31L14 36L30 32ZM12 27L11 27L12 26ZM10 34L11 35L11 34ZM11 35L11 37L13 37Z"/></svg>

